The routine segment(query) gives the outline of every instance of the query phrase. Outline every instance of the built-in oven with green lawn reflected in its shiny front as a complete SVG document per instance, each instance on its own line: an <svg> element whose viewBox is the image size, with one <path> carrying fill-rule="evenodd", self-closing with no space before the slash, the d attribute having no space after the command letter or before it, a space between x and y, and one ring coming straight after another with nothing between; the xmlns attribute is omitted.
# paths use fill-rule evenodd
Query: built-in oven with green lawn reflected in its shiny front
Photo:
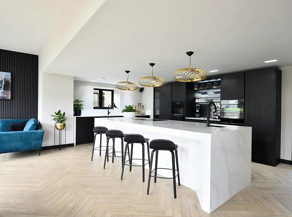
<svg viewBox="0 0 292 217"><path fill-rule="evenodd" d="M221 124L244 125L244 99L221 100Z"/></svg>

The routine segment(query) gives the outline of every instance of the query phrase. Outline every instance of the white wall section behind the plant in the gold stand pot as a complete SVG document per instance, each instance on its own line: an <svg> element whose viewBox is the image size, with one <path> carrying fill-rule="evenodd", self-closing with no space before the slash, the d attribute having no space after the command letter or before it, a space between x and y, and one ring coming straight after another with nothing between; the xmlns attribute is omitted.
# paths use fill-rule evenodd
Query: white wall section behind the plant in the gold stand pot
<svg viewBox="0 0 292 217"><path fill-rule="evenodd" d="M68 117L66 120L66 144L73 143L73 89L74 77L43 73L42 76L42 128L44 129L44 146L54 145L54 125L51 114L61 110ZM58 131L56 131L58 133ZM62 131L63 144L65 131ZM56 144L58 144L56 135Z"/></svg>

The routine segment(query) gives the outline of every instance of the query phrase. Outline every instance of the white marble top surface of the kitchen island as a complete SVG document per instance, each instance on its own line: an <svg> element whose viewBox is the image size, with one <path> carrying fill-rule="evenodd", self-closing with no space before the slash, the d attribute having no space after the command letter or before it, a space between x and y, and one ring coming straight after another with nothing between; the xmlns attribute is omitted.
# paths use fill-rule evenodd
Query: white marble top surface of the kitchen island
<svg viewBox="0 0 292 217"><path fill-rule="evenodd" d="M102 120L115 121L120 123L121 125L144 125L151 127L159 127L159 128L168 128L175 130L184 130L195 133L206 133L206 134L214 134L214 133L223 133L232 130L244 129L248 128L245 126L235 126L235 125L220 125L220 124L211 124L213 126L224 126L224 127L207 127L206 123L198 123L198 122L185 122L185 121L172 121L172 120L164 120L164 121L147 121L144 118L99 118Z"/></svg>

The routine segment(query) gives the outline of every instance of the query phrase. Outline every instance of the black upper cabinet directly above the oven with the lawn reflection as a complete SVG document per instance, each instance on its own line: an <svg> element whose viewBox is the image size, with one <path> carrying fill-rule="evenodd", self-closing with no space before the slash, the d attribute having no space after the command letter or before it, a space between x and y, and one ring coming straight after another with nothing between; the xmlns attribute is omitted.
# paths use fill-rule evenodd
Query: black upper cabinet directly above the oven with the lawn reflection
<svg viewBox="0 0 292 217"><path fill-rule="evenodd" d="M245 73L232 73L221 76L221 100L244 99Z"/></svg>

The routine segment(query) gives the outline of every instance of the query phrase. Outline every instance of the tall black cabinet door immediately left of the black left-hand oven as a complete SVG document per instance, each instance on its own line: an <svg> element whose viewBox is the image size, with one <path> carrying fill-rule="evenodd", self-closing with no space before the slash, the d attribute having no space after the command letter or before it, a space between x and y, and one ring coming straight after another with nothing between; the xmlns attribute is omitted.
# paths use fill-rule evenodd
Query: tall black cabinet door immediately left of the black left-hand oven
<svg viewBox="0 0 292 217"><path fill-rule="evenodd" d="M167 83L160 87L159 98L159 118L171 120L171 92L172 83Z"/></svg>

